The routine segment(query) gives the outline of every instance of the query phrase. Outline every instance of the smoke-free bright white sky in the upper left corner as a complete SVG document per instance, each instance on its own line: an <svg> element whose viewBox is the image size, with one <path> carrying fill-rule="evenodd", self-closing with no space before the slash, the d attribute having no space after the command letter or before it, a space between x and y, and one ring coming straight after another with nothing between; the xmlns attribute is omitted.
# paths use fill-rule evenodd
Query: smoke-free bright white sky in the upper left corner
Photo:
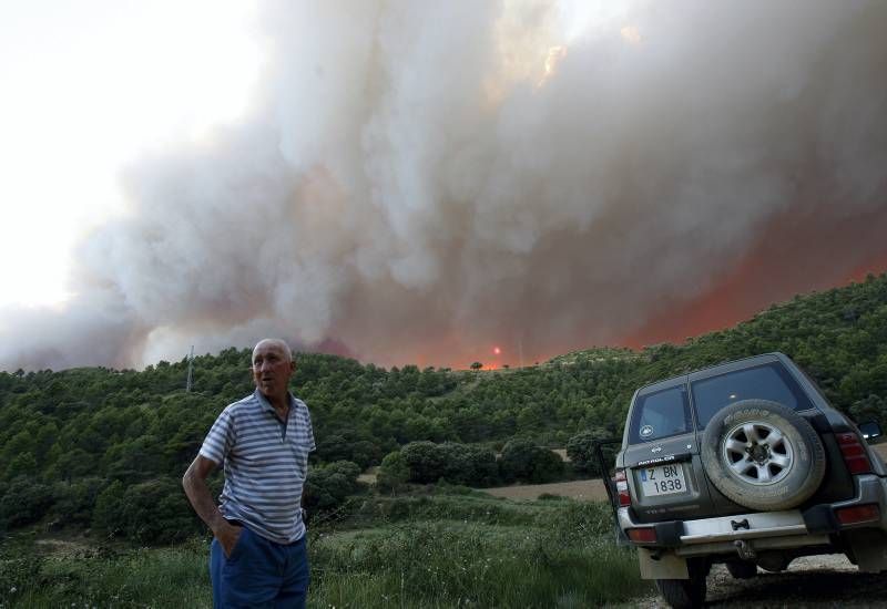
<svg viewBox="0 0 887 609"><path fill-rule="evenodd" d="M262 66L255 10L0 2L0 307L70 298L74 246L125 209L121 171L244 114Z"/></svg>

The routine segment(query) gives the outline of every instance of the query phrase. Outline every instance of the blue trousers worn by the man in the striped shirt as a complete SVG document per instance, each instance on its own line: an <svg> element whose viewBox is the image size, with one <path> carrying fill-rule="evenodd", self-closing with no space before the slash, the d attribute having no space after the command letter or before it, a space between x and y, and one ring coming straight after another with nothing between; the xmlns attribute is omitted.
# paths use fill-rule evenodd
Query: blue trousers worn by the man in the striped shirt
<svg viewBox="0 0 887 609"><path fill-rule="evenodd" d="M292 544L275 544L244 527L228 558L213 539L210 578L215 609L304 609L309 578L305 536Z"/></svg>

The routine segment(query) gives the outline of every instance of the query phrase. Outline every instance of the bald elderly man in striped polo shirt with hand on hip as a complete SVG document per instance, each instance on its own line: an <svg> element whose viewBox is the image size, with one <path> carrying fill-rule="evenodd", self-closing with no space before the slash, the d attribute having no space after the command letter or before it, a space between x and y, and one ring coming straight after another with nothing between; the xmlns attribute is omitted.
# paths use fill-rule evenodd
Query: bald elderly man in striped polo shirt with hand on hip
<svg viewBox="0 0 887 609"><path fill-rule="evenodd" d="M308 556L302 487L314 451L308 407L289 393L296 369L282 340L253 349L256 391L218 415L182 481L215 538L214 607L304 607ZM224 463L216 507L206 477Z"/></svg>

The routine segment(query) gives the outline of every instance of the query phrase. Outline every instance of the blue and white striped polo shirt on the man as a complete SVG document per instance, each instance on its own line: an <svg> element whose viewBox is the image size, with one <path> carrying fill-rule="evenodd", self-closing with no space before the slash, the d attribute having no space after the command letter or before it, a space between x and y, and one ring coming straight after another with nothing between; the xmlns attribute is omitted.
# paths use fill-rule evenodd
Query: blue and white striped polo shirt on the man
<svg viewBox="0 0 887 609"><path fill-rule="evenodd" d="M201 456L224 463L225 486L220 510L278 544L305 535L302 487L314 451L308 406L289 394L284 424L256 390L218 415L201 446Z"/></svg>

